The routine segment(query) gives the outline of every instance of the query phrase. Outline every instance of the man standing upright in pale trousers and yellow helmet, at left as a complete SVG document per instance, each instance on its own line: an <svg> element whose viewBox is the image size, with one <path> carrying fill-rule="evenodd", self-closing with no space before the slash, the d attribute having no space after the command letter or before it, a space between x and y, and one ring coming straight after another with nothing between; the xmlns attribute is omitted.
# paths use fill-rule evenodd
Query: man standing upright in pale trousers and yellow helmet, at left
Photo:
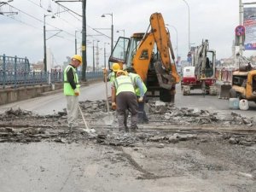
<svg viewBox="0 0 256 192"><path fill-rule="evenodd" d="M67 123L70 129L78 126L80 84L77 67L82 64L80 55L73 55L71 64L64 70L64 95L67 99Z"/></svg>

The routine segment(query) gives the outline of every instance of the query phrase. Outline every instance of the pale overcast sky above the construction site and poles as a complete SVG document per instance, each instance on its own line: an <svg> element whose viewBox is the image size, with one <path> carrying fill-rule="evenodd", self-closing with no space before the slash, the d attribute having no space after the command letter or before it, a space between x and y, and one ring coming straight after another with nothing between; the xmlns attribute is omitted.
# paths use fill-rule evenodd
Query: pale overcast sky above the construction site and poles
<svg viewBox="0 0 256 192"><path fill-rule="evenodd" d="M0 0L7 2L8 0ZM100 62L103 62L103 47L106 43L107 55L110 52L111 16L102 14L113 13L113 39L119 36L130 37L133 32L146 32L149 17L154 12L160 12L171 32L172 46L175 54L186 60L189 49L189 18L190 44L201 44L202 39L208 39L210 49L216 49L217 58L229 58L232 55L231 46L235 38L235 28L239 25L239 0L87 0L87 37L88 65L92 63L92 42L99 40ZM243 0L243 3L254 2ZM78 15L71 15L51 0L14 0L0 8L0 55L27 57L30 62L43 61L44 58L44 15L46 20L47 47L54 54L55 63L62 64L66 56L74 54L75 31L82 29L82 3L61 3ZM55 19L47 9L52 9ZM190 15L188 12L190 11ZM9 15L7 12L17 12ZM61 13L60 13L61 12ZM177 29L174 29L174 27ZM92 30L99 29L105 36ZM62 30L57 36L52 30ZM81 33L76 32L78 48L81 44ZM51 37L51 38L50 38ZM176 41L177 39L177 41ZM108 44L109 43L109 44ZM177 49L176 49L177 44ZM80 50L78 50L80 51ZM247 51L246 55L256 55L255 51ZM103 64L103 63L102 63ZM101 65L102 65L101 64Z"/></svg>

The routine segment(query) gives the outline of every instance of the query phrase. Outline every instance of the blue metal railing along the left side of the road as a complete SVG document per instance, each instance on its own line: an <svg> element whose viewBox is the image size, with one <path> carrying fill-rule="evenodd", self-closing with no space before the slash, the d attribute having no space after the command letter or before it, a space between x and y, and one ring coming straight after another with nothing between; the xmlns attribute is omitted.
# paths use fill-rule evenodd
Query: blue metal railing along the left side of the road
<svg viewBox="0 0 256 192"><path fill-rule="evenodd" d="M78 74L79 79L82 79L82 72L78 72ZM85 73L87 81L102 78L102 71ZM29 61L26 58L0 55L0 89L61 82L63 82L63 72L61 71L51 73L29 71Z"/></svg>

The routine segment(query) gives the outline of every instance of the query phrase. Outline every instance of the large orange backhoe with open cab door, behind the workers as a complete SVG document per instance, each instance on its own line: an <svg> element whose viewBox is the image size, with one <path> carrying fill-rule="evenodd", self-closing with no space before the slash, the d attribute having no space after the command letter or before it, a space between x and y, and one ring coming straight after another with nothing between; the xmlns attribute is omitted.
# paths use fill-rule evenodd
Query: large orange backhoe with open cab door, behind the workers
<svg viewBox="0 0 256 192"><path fill-rule="evenodd" d="M179 76L170 33L160 13L150 16L147 32L133 33L131 38L119 37L109 57L110 68L113 62L125 65L123 68L128 72L139 74L147 86L148 97L174 102Z"/></svg>

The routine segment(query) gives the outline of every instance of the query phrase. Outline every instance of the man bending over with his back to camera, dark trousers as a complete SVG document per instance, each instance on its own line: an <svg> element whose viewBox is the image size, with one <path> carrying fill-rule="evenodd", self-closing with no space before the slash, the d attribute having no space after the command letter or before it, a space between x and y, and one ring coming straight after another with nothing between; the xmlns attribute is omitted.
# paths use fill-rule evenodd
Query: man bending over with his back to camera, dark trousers
<svg viewBox="0 0 256 192"><path fill-rule="evenodd" d="M125 111L131 112L131 130L137 129L137 96L131 77L123 70L116 73L112 84L112 108L117 109L119 131L128 131L125 125Z"/></svg>

